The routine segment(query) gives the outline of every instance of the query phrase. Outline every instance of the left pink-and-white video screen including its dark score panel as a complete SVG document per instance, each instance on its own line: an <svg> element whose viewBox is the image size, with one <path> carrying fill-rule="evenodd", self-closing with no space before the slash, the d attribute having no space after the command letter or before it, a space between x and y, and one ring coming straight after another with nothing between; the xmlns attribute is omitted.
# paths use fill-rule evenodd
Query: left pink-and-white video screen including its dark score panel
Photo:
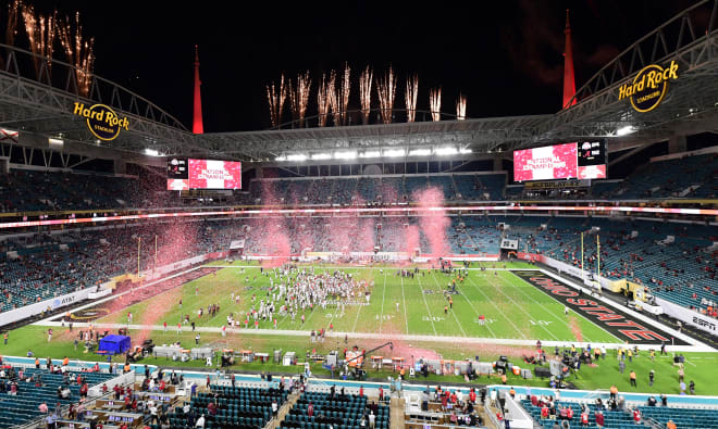
<svg viewBox="0 0 718 429"><path fill-rule="evenodd" d="M171 160L168 163L168 190L186 189L242 189L242 163Z"/></svg>

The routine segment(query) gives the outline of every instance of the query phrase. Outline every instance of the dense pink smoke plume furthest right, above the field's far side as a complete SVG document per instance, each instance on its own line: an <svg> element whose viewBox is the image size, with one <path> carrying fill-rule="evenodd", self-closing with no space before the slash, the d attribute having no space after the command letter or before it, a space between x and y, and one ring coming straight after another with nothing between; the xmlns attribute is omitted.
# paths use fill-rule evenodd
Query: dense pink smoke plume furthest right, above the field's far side
<svg viewBox="0 0 718 429"><path fill-rule="evenodd" d="M438 188L429 188L413 193L414 201L419 206L428 209L423 216L419 217L421 231L429 240L432 257L442 257L449 253L449 244L446 238L446 229L451 220L446 215L444 206L444 194Z"/></svg>

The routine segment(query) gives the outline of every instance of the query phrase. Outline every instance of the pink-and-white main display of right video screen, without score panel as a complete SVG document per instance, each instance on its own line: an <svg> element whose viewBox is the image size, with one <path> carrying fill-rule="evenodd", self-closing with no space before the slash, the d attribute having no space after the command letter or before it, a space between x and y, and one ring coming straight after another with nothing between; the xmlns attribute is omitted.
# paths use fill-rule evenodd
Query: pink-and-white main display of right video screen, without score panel
<svg viewBox="0 0 718 429"><path fill-rule="evenodd" d="M513 180L555 180L575 178L575 143L546 146L513 151Z"/></svg>

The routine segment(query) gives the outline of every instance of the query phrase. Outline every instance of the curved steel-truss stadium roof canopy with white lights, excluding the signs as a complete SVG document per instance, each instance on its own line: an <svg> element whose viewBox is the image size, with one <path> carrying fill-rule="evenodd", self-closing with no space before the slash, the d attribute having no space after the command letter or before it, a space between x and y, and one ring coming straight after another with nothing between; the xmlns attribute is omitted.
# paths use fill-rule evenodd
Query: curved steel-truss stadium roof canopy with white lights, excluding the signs
<svg viewBox="0 0 718 429"><path fill-rule="evenodd" d="M577 91L575 105L556 114L248 133L193 135L172 115L114 83L92 76L84 93L77 89L72 65L2 46L8 55L0 72L0 127L20 130L20 140L12 142L20 146L44 149L44 142L23 135L59 137L73 142L75 151L109 147L128 159L143 155L146 149L245 161L274 160L293 152L426 146L453 146L481 154L592 138L608 138L609 150L616 151L676 135L718 133L717 9L716 1L701 1L644 36ZM702 18L706 12L708 20ZM619 100L619 88L639 71L670 61L677 62L679 78L670 81L657 109L639 113L628 100ZM77 101L110 105L128 117L129 129L109 143L100 142L85 119L73 114Z"/></svg>

